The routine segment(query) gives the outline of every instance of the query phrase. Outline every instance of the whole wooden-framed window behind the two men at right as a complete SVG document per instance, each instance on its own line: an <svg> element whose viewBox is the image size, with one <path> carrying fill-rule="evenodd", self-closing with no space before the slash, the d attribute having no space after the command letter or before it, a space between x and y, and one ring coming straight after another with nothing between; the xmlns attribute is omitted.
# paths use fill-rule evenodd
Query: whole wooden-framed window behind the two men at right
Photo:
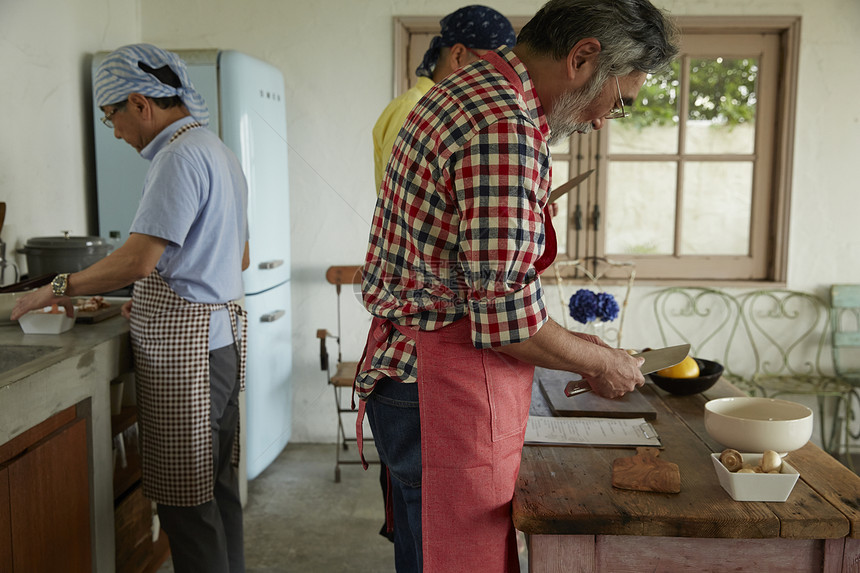
<svg viewBox="0 0 860 573"><path fill-rule="evenodd" d="M438 21L396 21L397 93ZM633 261L639 281L784 282L799 18L678 23L681 55L631 117L552 148L553 187L595 170L559 201L559 258Z"/></svg>

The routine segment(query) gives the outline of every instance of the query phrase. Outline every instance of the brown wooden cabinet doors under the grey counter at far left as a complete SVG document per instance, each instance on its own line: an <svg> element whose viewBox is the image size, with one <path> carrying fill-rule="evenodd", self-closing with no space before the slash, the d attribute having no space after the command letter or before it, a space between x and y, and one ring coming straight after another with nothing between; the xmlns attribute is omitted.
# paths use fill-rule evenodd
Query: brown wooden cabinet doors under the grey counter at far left
<svg viewBox="0 0 860 573"><path fill-rule="evenodd" d="M87 418L73 406L0 446L0 571L92 571Z"/></svg>

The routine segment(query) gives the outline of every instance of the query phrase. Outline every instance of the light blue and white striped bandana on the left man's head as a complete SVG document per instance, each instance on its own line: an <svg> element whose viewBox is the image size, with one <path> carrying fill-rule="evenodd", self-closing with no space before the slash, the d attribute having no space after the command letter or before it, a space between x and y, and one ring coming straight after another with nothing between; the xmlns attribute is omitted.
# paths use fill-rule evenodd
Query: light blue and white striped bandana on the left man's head
<svg viewBox="0 0 860 573"><path fill-rule="evenodd" d="M179 78L179 87L158 79L160 68L165 66ZM185 62L173 52L151 44L123 46L111 52L96 71L93 89L99 107L123 102L132 93L147 97L179 96L198 123L209 123L209 108L194 89Z"/></svg>

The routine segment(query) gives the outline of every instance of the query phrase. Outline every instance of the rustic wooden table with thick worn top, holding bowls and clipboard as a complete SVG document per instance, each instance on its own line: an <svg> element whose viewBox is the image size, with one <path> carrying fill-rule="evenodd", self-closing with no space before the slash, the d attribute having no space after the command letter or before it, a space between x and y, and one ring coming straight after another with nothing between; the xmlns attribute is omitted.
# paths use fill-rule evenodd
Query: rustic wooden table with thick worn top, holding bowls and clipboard
<svg viewBox="0 0 860 573"><path fill-rule="evenodd" d="M613 488L612 461L634 449L526 446L513 518L529 539L530 573L860 571L860 477L810 442L786 458L800 472L786 502L733 501L703 412L708 399L740 391L720 380L706 395L641 392L681 493ZM532 413L549 415L542 400L535 392Z"/></svg>

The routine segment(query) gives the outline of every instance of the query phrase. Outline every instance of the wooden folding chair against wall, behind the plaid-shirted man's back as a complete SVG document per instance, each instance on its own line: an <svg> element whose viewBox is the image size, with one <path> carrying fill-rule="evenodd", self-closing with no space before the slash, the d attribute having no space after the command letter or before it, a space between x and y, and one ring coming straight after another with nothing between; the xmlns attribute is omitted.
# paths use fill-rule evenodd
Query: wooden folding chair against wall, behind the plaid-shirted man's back
<svg viewBox="0 0 860 573"><path fill-rule="evenodd" d="M317 330L317 338L320 339L320 369L326 373L326 379L334 390L335 408L337 410L337 444L335 453L334 481L340 482L340 466L361 464L361 460L357 457L348 458L344 453L349 449L350 443L357 443L355 433L347 434L344 426L344 416L355 415L356 411L351 408L349 403L352 395L352 385L355 380L355 374L358 370L358 362L344 361L341 354L341 291L343 285L359 285L361 284L361 269L360 265L355 266L334 266L329 267L326 271L326 280L335 286L337 293L337 333L332 334L326 329ZM337 343L337 360L332 367L326 340L329 338L335 339ZM344 403L346 400L346 403ZM372 443L373 440L365 438L365 443ZM365 452L367 450L365 449ZM373 462L373 460L368 460Z"/></svg>

